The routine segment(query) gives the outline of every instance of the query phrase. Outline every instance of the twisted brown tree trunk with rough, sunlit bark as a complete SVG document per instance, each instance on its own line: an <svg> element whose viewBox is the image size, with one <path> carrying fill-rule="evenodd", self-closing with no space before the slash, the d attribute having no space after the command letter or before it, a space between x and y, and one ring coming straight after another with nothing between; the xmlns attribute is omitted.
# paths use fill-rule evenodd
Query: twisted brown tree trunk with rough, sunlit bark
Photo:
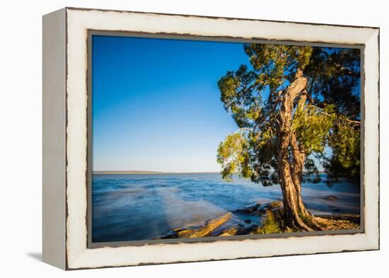
<svg viewBox="0 0 389 278"><path fill-rule="evenodd" d="M307 79L298 69L296 79L284 92L279 110L277 134L277 164L279 182L284 202L284 221L286 226L295 231L321 230L320 219L316 218L303 204L301 199L301 180L306 154L298 145L296 134L292 129L294 100L300 96L296 110L303 109L306 102Z"/></svg>

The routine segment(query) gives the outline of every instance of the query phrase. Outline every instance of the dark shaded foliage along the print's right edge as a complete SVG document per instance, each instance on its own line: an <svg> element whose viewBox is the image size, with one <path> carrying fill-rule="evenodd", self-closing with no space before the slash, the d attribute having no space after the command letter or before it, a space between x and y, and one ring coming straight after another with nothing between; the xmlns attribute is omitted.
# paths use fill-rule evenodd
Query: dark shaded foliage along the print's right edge
<svg viewBox="0 0 389 278"><path fill-rule="evenodd" d="M359 50L315 47L310 64L304 70L308 77L311 101L320 107L332 105L333 127L327 146L332 154L324 158L324 168L333 177L359 178L361 53Z"/></svg>

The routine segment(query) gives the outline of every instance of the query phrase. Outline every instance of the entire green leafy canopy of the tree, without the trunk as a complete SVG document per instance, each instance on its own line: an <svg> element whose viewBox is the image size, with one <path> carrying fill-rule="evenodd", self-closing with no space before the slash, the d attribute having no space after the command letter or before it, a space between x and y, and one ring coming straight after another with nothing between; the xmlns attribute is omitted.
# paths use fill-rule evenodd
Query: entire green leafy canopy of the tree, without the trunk
<svg viewBox="0 0 389 278"><path fill-rule="evenodd" d="M360 117L358 50L261 44L245 45L244 50L250 66L240 65L218 82L224 108L244 129L219 145L223 178L231 181L238 173L265 186L279 183L280 104L297 69L308 79L307 98L301 107L298 98L293 103L291 132L298 146L306 156L321 156L332 175L359 175L360 126L352 124ZM327 147L330 158L325 157ZM310 158L304 168L308 175L318 173Z"/></svg>

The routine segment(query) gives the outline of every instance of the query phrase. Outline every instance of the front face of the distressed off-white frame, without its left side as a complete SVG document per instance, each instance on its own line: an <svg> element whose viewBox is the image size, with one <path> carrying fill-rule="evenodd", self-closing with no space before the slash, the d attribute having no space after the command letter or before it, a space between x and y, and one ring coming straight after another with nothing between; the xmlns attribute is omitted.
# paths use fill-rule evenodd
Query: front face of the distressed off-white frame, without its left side
<svg viewBox="0 0 389 278"><path fill-rule="evenodd" d="M66 269L229 260L379 248L379 29L65 8ZM364 45L364 233L87 248L88 30ZM45 196L44 196L45 198ZM45 250L44 250L45 253Z"/></svg>

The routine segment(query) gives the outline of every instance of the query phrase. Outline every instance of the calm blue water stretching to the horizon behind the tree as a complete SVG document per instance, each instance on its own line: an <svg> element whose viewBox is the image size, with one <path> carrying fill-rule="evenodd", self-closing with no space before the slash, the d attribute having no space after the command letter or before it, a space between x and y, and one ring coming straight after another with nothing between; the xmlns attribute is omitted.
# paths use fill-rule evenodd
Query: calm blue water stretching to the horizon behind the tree
<svg viewBox="0 0 389 278"><path fill-rule="evenodd" d="M359 185L303 184L303 200L314 214L359 214ZM173 228L202 224L255 202L281 200L279 185L263 187L219 173L93 175L93 242L160 237ZM333 195L337 200L325 197Z"/></svg>

